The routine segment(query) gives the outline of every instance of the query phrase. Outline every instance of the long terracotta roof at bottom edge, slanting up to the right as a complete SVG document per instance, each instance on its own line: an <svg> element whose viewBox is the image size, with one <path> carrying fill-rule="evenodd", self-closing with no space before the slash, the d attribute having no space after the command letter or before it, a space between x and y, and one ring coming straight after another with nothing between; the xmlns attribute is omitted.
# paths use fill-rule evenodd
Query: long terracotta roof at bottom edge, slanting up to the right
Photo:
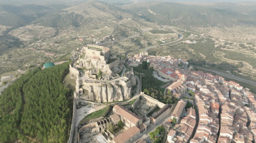
<svg viewBox="0 0 256 143"><path fill-rule="evenodd" d="M126 142L127 140L129 140L130 138L134 137L134 135L136 133L140 132L139 128L136 126L131 127L130 129L127 129L126 131L124 131L123 133L121 133L120 135L118 135L117 137L115 137L113 139L113 141L115 143L122 143L122 142Z"/></svg>

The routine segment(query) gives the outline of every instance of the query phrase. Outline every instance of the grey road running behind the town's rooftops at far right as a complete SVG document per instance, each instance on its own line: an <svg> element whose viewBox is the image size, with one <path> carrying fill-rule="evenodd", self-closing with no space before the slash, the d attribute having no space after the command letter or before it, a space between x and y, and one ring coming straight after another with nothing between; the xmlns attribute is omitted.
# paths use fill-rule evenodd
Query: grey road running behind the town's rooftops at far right
<svg viewBox="0 0 256 143"><path fill-rule="evenodd" d="M226 76L227 78L232 78L234 80L239 80L240 82L244 82L244 83L248 83L248 84L256 86L256 82L253 82L251 80L246 80L244 78L240 78L240 77L237 77L237 76L232 76L231 74L227 74L225 72L215 71L215 70L212 70L212 69L205 69L203 67L197 67L197 68L198 69L203 69L203 70L206 70L206 71L210 71L210 72L214 72L216 74L219 74L220 76Z"/></svg>

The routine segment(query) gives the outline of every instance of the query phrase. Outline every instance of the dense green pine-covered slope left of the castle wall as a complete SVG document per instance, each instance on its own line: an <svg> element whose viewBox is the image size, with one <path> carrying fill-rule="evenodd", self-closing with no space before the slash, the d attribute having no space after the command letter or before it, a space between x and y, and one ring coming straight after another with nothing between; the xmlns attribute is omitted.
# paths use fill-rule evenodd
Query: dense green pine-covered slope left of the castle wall
<svg viewBox="0 0 256 143"><path fill-rule="evenodd" d="M72 101L63 78L68 63L35 69L0 98L0 142L67 142Z"/></svg>

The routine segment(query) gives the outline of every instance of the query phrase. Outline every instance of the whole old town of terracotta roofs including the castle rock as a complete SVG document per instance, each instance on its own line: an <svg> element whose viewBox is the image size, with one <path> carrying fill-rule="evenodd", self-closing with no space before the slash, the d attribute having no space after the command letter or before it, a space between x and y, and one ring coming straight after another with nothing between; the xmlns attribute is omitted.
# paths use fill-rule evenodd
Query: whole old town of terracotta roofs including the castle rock
<svg viewBox="0 0 256 143"><path fill-rule="evenodd" d="M76 126L71 133L78 142L255 140L254 94L236 82L193 71L188 61L172 56L141 52L120 60L110 49L98 45L85 45L79 58L73 59L77 59L70 65L70 73L77 81L76 103L90 103L82 109L94 107L86 110L87 116L107 107L105 115L87 122L73 119ZM166 83L164 94L175 102L163 103L142 91L143 74L132 67L143 64L154 69L154 78ZM74 104L74 113L78 114L80 109L76 108Z"/></svg>

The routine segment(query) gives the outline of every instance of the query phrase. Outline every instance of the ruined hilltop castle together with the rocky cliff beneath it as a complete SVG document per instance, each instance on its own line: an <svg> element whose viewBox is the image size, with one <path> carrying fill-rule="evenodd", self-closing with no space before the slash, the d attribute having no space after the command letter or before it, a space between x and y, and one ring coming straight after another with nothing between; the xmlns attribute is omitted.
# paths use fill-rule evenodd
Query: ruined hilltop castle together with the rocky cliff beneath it
<svg viewBox="0 0 256 143"><path fill-rule="evenodd" d="M111 59L108 48L82 47L78 60L70 64L70 76L76 78L78 97L99 103L130 99L136 79L133 70L120 77L118 73L123 66L118 58Z"/></svg>

